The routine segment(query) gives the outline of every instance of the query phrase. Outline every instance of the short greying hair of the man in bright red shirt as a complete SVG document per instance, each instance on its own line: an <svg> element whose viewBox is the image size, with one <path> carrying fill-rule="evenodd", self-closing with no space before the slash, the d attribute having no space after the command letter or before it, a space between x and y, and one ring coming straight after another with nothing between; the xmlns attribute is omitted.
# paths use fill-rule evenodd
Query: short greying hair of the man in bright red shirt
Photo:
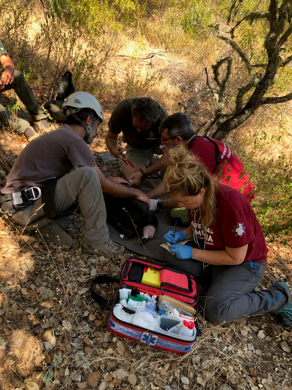
<svg viewBox="0 0 292 390"><path fill-rule="evenodd" d="M159 126L160 134L163 129L167 129L169 138L180 136L184 141L189 140L195 135L190 118L182 112L176 112L165 118Z"/></svg>

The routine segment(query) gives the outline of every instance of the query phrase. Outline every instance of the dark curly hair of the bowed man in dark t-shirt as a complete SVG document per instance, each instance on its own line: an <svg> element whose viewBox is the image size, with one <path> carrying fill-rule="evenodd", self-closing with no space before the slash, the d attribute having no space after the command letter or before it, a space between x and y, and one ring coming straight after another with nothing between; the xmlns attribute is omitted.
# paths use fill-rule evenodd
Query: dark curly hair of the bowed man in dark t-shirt
<svg viewBox="0 0 292 390"><path fill-rule="evenodd" d="M144 124L155 123L159 118L159 104L151 97L139 97L132 105L132 117Z"/></svg>

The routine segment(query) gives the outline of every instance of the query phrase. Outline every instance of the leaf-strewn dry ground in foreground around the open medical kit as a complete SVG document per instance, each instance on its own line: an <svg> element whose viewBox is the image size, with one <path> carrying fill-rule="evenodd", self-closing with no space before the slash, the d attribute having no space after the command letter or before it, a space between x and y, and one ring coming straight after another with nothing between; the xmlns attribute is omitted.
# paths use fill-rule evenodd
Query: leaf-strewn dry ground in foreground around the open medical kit
<svg viewBox="0 0 292 390"><path fill-rule="evenodd" d="M2 234L8 232L2 229ZM214 326L199 316L204 331L188 355L151 349L109 333L107 313L88 293L94 275L118 276L120 262L129 253L120 261L93 259L81 254L78 240L69 250L47 248L33 235L2 236L3 390L22 388L30 381L41 388L91 388L87 382L92 372L100 388L245 389L248 383L289 388L290 357L283 347L291 343L292 333L283 332L273 317L252 316ZM291 249L281 248L278 264L279 249L271 248L269 277L286 275L292 281ZM113 286L100 287L113 298ZM114 379L121 374L121 381Z"/></svg>

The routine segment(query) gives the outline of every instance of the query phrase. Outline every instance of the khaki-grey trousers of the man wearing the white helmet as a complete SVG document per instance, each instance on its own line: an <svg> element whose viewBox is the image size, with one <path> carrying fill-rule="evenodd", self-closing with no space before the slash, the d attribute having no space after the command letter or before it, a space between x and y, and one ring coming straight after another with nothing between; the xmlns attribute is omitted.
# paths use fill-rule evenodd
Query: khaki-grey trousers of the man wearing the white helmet
<svg viewBox="0 0 292 390"><path fill-rule="evenodd" d="M82 244L99 245L109 240L109 231L106 225L106 206L99 182L99 175L90 167L81 167L57 181L55 193L56 211L64 213L73 204L78 204L82 219ZM38 229L51 222L43 218L42 199L36 200L31 206L14 214L13 222L20 223L26 230Z"/></svg>

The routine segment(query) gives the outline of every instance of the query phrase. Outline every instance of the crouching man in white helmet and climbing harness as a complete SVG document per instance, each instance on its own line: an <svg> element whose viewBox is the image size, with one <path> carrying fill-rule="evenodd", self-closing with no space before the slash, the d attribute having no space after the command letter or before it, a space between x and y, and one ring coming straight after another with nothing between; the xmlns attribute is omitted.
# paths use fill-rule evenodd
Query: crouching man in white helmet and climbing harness
<svg viewBox="0 0 292 390"><path fill-rule="evenodd" d="M123 246L109 239L103 193L136 197L148 205L141 191L121 185L124 179L104 177L87 144L99 134L102 108L87 92L74 92L63 103L67 121L59 129L33 140L14 162L0 195L0 212L26 230L38 229L55 243L70 245L60 217L79 206L82 250L114 256ZM72 170L72 168L78 169ZM55 220L55 222L52 222Z"/></svg>

